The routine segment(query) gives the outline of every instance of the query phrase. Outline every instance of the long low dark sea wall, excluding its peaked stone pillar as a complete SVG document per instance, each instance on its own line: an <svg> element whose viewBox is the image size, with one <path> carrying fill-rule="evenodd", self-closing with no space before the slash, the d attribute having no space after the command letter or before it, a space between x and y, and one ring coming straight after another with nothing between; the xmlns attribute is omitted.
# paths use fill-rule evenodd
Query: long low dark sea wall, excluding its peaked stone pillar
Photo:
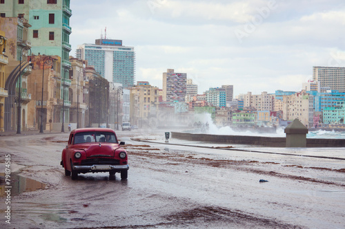
<svg viewBox="0 0 345 229"><path fill-rule="evenodd" d="M285 147L286 138L270 138L259 136L244 135L213 135L205 133L181 133L171 132L171 138L199 141L199 142L217 142L227 144L247 144L270 147ZM345 147L345 139L319 139L307 138L307 147Z"/></svg>

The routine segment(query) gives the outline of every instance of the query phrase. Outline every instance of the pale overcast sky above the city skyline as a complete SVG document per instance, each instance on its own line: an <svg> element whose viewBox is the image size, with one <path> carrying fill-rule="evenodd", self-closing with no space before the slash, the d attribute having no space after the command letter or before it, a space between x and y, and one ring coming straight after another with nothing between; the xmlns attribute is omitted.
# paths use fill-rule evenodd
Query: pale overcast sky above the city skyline
<svg viewBox="0 0 345 229"><path fill-rule="evenodd" d="M72 0L70 43L135 47L136 81L162 88L166 69L234 96L299 91L313 66L345 67L344 0Z"/></svg>

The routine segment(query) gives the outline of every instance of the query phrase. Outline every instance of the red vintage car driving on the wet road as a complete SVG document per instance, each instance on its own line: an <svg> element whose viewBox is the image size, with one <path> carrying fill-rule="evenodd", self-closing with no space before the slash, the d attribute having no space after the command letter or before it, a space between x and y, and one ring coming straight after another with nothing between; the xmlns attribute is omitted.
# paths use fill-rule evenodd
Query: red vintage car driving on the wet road
<svg viewBox="0 0 345 229"><path fill-rule="evenodd" d="M107 128L82 128L70 132L68 144L62 151L61 166L65 175L77 179L78 173L109 172L128 177L128 158L118 142L115 131Z"/></svg>

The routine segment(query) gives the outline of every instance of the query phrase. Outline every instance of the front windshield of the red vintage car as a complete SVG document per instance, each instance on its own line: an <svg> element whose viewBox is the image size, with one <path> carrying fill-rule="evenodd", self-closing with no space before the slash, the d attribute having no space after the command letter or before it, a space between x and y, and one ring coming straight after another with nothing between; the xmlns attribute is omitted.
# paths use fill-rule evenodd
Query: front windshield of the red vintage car
<svg viewBox="0 0 345 229"><path fill-rule="evenodd" d="M117 139L114 133L108 133L108 132L82 132L82 133L75 134L74 144L80 144L80 143L86 143L86 142L117 143Z"/></svg>

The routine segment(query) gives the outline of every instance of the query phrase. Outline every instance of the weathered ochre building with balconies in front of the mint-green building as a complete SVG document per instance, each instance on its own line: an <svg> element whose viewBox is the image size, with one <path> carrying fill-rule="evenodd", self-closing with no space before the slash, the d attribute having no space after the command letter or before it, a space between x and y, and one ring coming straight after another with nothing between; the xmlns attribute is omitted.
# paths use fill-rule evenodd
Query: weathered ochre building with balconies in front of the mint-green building
<svg viewBox="0 0 345 229"><path fill-rule="evenodd" d="M20 133L28 127L27 105L31 95L27 92L27 81L31 73L30 56L32 55L31 43L28 41L30 27L26 19L0 17L0 30L6 33L5 47L8 56L8 65L5 66L4 74L5 87L8 89L3 117L5 131L17 129L17 133ZM19 108L20 113L18 113Z"/></svg>

